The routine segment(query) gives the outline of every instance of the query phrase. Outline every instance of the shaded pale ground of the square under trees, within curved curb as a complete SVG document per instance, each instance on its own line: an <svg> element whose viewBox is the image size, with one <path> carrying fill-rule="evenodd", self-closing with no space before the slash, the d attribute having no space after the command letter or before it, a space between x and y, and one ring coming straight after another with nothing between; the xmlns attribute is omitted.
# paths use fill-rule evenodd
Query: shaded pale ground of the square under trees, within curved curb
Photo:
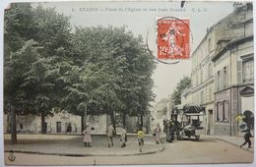
<svg viewBox="0 0 256 167"><path fill-rule="evenodd" d="M139 151L137 136L128 135L126 147L120 146L119 137L113 139L114 146L107 147L105 135L93 135L93 147L86 147L83 137L78 135L18 135L18 143L10 143L10 135L4 135L5 151L61 156L116 156L157 153L163 150L151 136L145 137L143 152Z"/></svg>

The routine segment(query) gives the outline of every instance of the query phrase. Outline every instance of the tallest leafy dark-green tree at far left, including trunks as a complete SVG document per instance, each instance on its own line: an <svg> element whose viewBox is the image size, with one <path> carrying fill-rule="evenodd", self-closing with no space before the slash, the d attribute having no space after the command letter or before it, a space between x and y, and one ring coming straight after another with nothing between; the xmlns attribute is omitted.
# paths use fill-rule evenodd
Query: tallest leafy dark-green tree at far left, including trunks
<svg viewBox="0 0 256 167"><path fill-rule="evenodd" d="M58 105L55 92L62 89L59 69L68 62L70 29L69 19L54 9L17 3L5 13L5 111L13 108L13 117L38 114L43 128L44 117L52 115ZM15 121L13 142L17 141Z"/></svg>

